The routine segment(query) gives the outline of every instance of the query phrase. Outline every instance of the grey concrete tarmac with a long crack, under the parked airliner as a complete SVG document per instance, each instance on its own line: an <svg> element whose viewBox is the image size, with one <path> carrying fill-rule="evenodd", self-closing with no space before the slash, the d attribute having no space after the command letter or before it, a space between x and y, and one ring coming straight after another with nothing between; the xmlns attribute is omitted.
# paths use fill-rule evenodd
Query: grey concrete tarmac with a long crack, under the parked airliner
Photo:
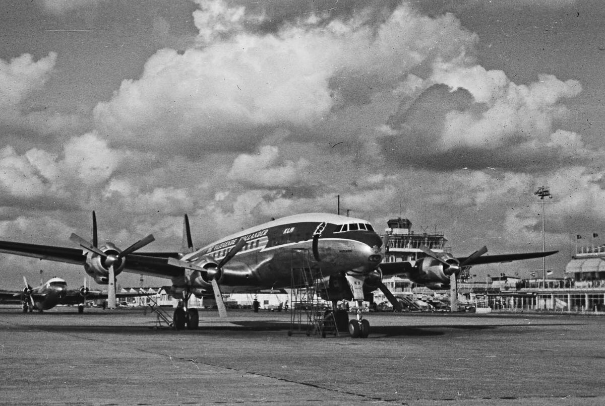
<svg viewBox="0 0 605 406"><path fill-rule="evenodd" d="M605 317L364 314L368 338L295 329L287 312L0 306L2 405L603 405Z"/></svg>

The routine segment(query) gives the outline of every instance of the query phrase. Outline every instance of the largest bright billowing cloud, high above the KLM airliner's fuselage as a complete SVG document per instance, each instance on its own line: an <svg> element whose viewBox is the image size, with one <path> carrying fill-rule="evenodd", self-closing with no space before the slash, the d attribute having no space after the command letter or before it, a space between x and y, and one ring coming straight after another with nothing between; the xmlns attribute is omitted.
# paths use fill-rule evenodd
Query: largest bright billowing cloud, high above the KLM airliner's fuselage
<svg viewBox="0 0 605 406"><path fill-rule="evenodd" d="M262 14L247 16L221 1L200 5L202 47L158 51L139 79L123 81L94 109L113 143L249 149L276 128L321 126L338 109L368 103L411 69L460 57L477 40L452 16L428 18L407 5L377 27L349 18L270 33L247 30Z"/></svg>

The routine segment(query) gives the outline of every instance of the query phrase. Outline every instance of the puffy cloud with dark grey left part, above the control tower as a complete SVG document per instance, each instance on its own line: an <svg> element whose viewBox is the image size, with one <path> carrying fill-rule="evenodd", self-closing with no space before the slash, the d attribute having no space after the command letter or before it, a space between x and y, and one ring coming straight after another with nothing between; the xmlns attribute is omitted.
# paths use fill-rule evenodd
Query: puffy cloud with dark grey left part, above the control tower
<svg viewBox="0 0 605 406"><path fill-rule="evenodd" d="M536 82L517 85L503 71L466 62L436 61L424 86L416 85L424 89L404 97L388 127L381 127L399 153L415 153L406 162L531 170L538 161L556 166L592 155L580 135L557 128L568 114L564 100L580 94L580 82L540 74Z"/></svg>

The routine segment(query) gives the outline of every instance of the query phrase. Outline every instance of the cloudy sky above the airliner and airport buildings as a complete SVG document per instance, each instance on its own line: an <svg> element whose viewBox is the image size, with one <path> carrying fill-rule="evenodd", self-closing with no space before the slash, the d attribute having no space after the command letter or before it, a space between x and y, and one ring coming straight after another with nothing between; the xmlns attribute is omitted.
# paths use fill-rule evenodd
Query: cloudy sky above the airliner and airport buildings
<svg viewBox="0 0 605 406"><path fill-rule="evenodd" d="M5 1L0 239L73 247L95 210L100 239L175 251L185 213L201 246L339 195L457 256L541 251L545 186L563 277L605 239L604 18L572 0ZM41 269L85 275L2 254L0 285Z"/></svg>

